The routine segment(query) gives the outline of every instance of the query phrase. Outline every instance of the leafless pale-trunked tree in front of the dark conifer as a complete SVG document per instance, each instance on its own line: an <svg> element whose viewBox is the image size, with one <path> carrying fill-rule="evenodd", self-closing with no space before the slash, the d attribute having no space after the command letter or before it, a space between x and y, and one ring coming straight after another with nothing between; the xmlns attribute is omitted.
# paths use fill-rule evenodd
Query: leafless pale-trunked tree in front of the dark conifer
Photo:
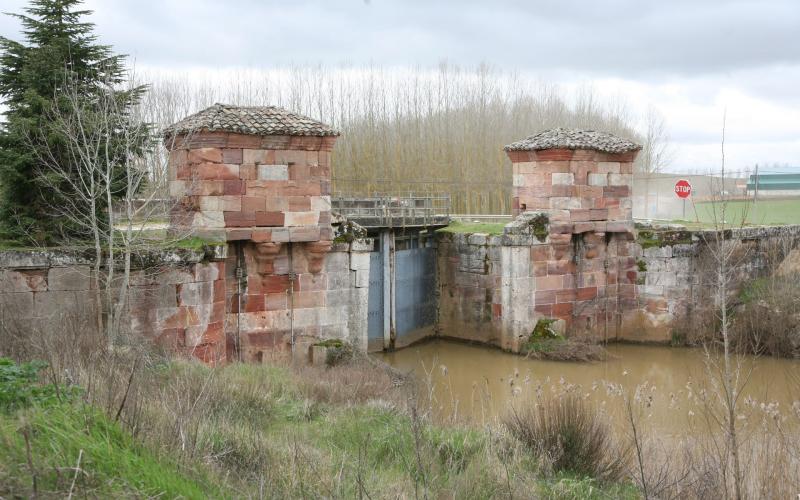
<svg viewBox="0 0 800 500"><path fill-rule="evenodd" d="M42 177L55 193L51 210L70 228L62 235L65 244L93 249L96 325L109 343L121 330L133 259L171 242L152 230L169 210L159 198L169 180L168 156L146 121L147 110L126 104L139 88L108 84L87 98L85 89L66 81L60 105L50 110L59 140L43 138L40 158ZM57 161L59 149L68 152L68 165Z"/></svg>

